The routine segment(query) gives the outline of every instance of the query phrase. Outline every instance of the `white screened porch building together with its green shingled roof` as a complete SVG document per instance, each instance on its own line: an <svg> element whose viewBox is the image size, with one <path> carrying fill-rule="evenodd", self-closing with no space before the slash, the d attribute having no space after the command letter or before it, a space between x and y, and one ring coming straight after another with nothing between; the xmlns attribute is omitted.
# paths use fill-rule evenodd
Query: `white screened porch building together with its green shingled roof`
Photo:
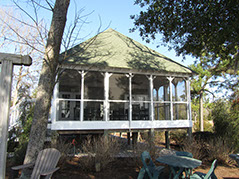
<svg viewBox="0 0 239 179"><path fill-rule="evenodd" d="M51 129L59 132L192 128L193 71L108 29L62 54Z"/></svg>

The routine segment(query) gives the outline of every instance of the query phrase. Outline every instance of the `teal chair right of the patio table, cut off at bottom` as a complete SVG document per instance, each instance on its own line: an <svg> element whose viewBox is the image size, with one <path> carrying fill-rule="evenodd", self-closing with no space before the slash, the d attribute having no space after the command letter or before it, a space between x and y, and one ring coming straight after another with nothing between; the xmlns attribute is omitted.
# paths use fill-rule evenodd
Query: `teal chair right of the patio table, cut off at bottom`
<svg viewBox="0 0 239 179"><path fill-rule="evenodd" d="M190 179L217 179L217 176L214 173L214 170L217 167L217 160L214 160L212 162L211 168L210 170L207 172L207 174L205 173L201 173L201 172L195 172L192 176L190 176Z"/></svg>

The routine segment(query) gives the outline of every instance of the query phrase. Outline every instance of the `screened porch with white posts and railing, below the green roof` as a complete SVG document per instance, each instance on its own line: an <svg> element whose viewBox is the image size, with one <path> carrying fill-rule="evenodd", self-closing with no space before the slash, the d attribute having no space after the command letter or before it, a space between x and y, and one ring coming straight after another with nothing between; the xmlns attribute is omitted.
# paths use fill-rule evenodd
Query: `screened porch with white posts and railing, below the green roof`
<svg viewBox="0 0 239 179"><path fill-rule="evenodd" d="M188 128L188 76L65 69L54 90L53 130Z"/></svg>

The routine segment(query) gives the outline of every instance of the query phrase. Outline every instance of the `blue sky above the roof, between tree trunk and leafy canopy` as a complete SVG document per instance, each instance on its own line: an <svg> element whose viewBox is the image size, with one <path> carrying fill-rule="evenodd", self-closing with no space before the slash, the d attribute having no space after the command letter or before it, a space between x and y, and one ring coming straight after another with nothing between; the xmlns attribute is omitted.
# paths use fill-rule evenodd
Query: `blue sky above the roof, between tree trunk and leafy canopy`
<svg viewBox="0 0 239 179"><path fill-rule="evenodd" d="M134 0L75 0L75 2L77 2L76 4L78 8L85 9L85 13L94 11L93 14L89 16L89 21L91 21L91 24L86 26L87 32L89 32L89 29L91 30L99 27L100 16L102 21L102 29L107 28L109 25L110 28L119 31L120 33L158 51L159 53L183 65L187 66L193 63L194 59L190 56L187 56L186 60L182 62L182 57L176 56L174 50L169 51L167 47L163 46L157 48L157 45L159 44L157 41L149 44L142 41L138 32L129 33L129 29L134 27L133 20L130 19L130 15L138 14L141 11L141 8L138 5L134 5ZM73 8L73 6L74 1L71 2L70 8ZM159 40L160 39L158 39L158 41Z"/></svg>

